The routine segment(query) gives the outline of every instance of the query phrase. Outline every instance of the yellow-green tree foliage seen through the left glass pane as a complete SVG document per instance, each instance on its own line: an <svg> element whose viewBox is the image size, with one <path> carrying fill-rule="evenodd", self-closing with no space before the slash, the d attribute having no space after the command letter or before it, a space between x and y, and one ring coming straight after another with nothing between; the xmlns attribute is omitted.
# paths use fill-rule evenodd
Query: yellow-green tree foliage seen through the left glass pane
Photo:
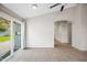
<svg viewBox="0 0 87 65"><path fill-rule="evenodd" d="M10 28L10 21L0 18L0 31L4 32Z"/></svg>

